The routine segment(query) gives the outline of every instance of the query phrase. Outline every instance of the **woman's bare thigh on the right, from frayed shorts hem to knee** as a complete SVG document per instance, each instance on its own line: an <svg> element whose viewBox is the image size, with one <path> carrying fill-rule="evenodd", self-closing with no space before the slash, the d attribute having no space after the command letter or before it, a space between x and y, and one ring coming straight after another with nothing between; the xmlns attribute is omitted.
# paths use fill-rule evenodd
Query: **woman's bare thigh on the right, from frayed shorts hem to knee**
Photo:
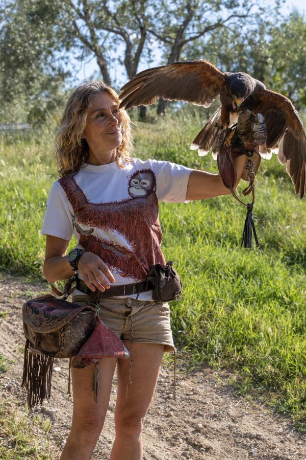
<svg viewBox="0 0 306 460"><path fill-rule="evenodd" d="M126 343L130 348L130 344ZM137 428L147 413L157 385L164 345L160 343L133 343L133 364L131 383L126 397L129 382L130 360L119 359L117 363L118 393L115 409L115 422L120 425L129 424Z"/></svg>

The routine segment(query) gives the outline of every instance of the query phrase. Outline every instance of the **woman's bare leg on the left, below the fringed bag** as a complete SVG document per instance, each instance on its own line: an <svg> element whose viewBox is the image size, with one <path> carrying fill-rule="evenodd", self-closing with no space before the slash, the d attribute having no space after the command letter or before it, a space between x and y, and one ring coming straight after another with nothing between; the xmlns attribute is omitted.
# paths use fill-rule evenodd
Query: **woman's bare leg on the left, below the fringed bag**
<svg viewBox="0 0 306 460"><path fill-rule="evenodd" d="M103 428L108 409L115 358L99 362L99 388L97 403L93 399L94 366L71 369L73 390L73 416L71 431L60 460L89 460Z"/></svg>

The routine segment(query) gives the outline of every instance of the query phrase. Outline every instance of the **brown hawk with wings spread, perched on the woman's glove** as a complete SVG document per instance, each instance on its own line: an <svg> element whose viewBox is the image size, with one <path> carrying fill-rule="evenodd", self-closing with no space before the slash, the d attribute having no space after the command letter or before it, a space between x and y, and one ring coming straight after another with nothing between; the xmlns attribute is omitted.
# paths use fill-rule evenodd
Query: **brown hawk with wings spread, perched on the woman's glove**
<svg viewBox="0 0 306 460"><path fill-rule="evenodd" d="M233 116L246 110L262 114L267 136L254 147L259 155L271 158L278 147L278 160L286 170L300 198L306 192L306 135L292 102L266 89L265 85L243 72L221 72L204 60L176 62L150 68L137 74L122 88L120 108L150 105L159 98L191 102L209 107L219 95L221 106L198 133L191 149L205 155L212 149L220 154L220 134L230 127Z"/></svg>

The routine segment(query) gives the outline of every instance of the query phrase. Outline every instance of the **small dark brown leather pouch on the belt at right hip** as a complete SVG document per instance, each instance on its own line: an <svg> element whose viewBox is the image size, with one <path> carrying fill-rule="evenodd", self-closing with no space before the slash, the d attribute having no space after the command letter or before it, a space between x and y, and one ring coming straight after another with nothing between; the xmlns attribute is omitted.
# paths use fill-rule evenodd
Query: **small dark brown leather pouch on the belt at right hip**
<svg viewBox="0 0 306 460"><path fill-rule="evenodd" d="M182 300L182 282L179 273L173 268L172 260L163 267L162 264L151 265L147 278L154 286L152 298L157 302Z"/></svg>

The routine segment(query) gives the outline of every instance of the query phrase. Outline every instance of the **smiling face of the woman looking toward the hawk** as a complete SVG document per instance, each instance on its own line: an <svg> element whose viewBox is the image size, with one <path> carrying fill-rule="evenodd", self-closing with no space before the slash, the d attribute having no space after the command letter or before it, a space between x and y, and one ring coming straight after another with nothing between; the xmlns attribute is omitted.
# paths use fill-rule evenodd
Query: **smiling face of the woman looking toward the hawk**
<svg viewBox="0 0 306 460"><path fill-rule="evenodd" d="M83 132L90 150L109 152L122 142L121 116L118 103L105 92L96 94L92 99Z"/></svg>

